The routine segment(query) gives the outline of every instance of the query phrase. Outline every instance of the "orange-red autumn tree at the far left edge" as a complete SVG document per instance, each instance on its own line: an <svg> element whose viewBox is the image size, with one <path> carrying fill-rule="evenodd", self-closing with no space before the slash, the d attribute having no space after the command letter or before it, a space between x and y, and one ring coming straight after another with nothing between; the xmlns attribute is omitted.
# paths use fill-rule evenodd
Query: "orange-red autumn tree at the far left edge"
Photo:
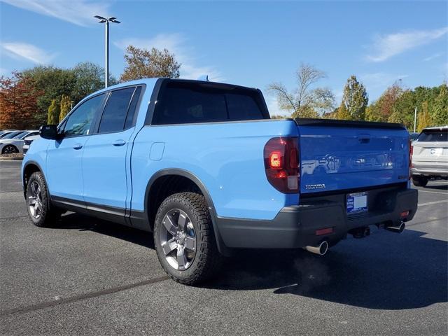
<svg viewBox="0 0 448 336"><path fill-rule="evenodd" d="M10 77L0 77L0 129L24 130L34 125L37 111L37 99L41 90L31 78L25 78L20 72Z"/></svg>

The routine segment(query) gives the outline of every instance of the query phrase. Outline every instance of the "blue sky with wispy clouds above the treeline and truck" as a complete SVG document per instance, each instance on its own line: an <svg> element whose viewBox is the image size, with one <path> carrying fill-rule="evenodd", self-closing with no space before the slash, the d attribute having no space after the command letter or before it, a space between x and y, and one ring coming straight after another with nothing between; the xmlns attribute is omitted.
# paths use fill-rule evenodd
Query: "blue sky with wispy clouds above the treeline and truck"
<svg viewBox="0 0 448 336"><path fill-rule="evenodd" d="M352 74L370 100L402 80L440 85L448 76L448 1L87 1L0 0L0 71L36 64L104 65L104 27L111 26L111 73L124 48L167 48L181 76L260 87L295 87L300 62L327 73L318 85L339 100ZM278 113L267 96L269 110Z"/></svg>

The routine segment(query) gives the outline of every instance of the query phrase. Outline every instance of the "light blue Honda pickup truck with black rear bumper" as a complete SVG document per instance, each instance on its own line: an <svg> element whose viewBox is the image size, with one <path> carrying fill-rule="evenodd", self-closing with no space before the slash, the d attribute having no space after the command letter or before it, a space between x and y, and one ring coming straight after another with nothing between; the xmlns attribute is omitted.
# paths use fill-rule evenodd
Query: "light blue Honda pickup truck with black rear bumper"
<svg viewBox="0 0 448 336"><path fill-rule="evenodd" d="M325 254L416 212L399 124L272 120L260 90L150 78L83 99L41 127L22 165L31 221L76 211L154 233L176 281L209 278L239 248Z"/></svg>

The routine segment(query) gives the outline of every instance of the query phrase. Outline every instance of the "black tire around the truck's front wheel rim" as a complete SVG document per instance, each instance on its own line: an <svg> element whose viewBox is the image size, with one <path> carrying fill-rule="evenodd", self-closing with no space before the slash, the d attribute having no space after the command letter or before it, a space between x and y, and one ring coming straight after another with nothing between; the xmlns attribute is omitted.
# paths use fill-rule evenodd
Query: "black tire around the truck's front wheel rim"
<svg viewBox="0 0 448 336"><path fill-rule="evenodd" d="M39 204L41 204L41 211L39 211L38 214L33 214L31 207L34 208L32 205L33 202L36 202L36 199L30 198L30 196L34 195L32 188L35 188L36 185L40 188L40 197L38 197L38 200L40 200ZM28 216L34 225L40 228L50 228L56 221L59 220L61 211L55 207L52 207L47 184L45 183L45 179L41 172L34 172L29 177L26 197Z"/></svg>

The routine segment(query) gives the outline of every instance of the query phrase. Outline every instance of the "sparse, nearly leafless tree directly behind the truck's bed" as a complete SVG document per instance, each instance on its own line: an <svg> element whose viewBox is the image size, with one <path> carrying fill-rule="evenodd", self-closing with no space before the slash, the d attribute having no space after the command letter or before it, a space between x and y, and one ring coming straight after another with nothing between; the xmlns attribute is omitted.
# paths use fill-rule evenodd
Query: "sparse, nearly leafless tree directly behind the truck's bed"
<svg viewBox="0 0 448 336"><path fill-rule="evenodd" d="M325 78L323 71L301 63L296 73L297 89L289 92L282 83L272 83L269 92L276 94L279 108L292 113L293 118L317 118L319 113L332 111L335 97L327 87L314 87Z"/></svg>

